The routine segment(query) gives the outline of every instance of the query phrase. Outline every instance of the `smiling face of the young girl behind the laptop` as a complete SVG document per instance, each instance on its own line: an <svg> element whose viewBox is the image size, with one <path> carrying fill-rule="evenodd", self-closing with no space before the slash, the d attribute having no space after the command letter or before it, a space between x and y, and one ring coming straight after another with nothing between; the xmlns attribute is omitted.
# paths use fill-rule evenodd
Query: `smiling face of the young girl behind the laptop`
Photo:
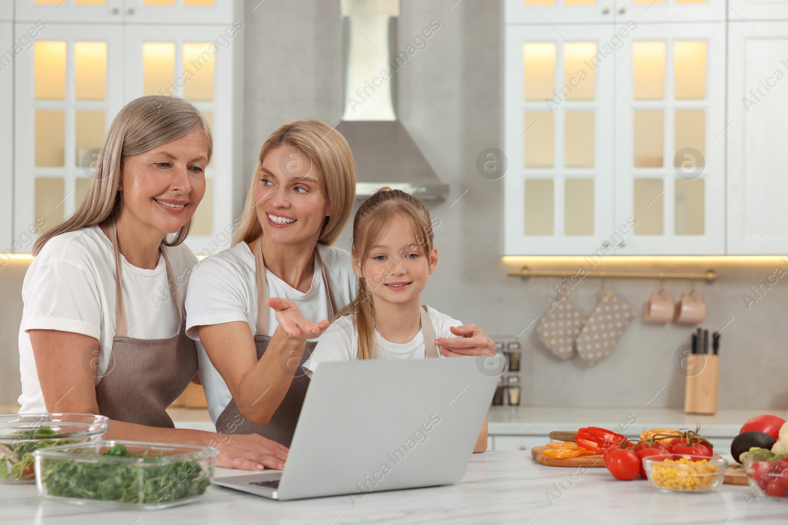
<svg viewBox="0 0 788 525"><path fill-rule="evenodd" d="M396 304L416 301L418 304L419 294L438 264L437 248L426 257L423 235L419 237L422 244L414 238L406 220L397 214L366 253L363 268L362 261L353 253L355 273L365 279L376 301Z"/></svg>

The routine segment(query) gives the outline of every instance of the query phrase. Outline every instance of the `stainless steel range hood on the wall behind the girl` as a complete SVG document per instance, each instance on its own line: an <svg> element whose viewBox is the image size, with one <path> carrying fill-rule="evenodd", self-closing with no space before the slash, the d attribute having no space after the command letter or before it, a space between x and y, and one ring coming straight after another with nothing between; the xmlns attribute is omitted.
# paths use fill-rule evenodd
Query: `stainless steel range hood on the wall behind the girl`
<svg viewBox="0 0 788 525"><path fill-rule="evenodd" d="M356 198L388 186L424 201L444 201L448 184L440 182L396 117L396 71L414 59L396 51L399 0L342 0L341 10L344 113L336 130L353 150Z"/></svg>

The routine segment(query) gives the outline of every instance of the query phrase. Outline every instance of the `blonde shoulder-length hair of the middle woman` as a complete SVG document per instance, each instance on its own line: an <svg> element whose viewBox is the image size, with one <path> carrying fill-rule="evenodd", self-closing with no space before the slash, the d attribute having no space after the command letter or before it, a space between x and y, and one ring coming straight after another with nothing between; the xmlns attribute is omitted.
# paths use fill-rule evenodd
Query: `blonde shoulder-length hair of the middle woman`
<svg viewBox="0 0 788 525"><path fill-rule="evenodd" d="M353 211L355 202L355 165L348 141L339 131L322 120L293 120L280 126L263 142L258 155L258 164L249 184L246 204L232 245L252 242L262 235L262 226L257 217L257 187L260 170L266 155L281 146L291 146L306 155L325 179L325 194L332 207L331 215L325 220L318 242L333 244L340 236Z"/></svg>

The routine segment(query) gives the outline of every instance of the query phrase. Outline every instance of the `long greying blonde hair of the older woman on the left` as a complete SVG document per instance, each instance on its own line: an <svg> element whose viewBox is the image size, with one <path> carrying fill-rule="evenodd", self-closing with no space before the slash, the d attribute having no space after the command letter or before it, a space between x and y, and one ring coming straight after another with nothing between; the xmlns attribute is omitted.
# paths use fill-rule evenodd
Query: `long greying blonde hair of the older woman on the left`
<svg viewBox="0 0 788 525"><path fill-rule="evenodd" d="M208 161L214 152L214 140L208 123L199 109L183 98L149 95L132 100L121 109L106 132L87 194L76 212L45 231L33 245L38 255L50 238L80 227L100 224L113 217L121 205L123 165L128 157L153 150L162 144L199 130L208 142ZM176 238L166 246L177 246L189 235L191 219L180 228Z"/></svg>

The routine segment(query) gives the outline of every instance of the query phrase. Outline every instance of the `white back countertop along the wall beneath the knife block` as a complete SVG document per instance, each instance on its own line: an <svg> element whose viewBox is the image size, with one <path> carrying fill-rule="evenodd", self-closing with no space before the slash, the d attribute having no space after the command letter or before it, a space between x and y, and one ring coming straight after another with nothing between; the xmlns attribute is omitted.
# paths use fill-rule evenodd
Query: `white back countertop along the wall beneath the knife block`
<svg viewBox="0 0 788 525"><path fill-rule="evenodd" d="M701 423L707 437L734 438L746 420L760 414L775 414L788 419L788 413L775 409L719 409L714 416L685 414L682 409L649 407L492 407L488 412L490 435L539 435L551 431L576 431L579 427L618 429L637 437L644 429L691 428Z"/></svg>

